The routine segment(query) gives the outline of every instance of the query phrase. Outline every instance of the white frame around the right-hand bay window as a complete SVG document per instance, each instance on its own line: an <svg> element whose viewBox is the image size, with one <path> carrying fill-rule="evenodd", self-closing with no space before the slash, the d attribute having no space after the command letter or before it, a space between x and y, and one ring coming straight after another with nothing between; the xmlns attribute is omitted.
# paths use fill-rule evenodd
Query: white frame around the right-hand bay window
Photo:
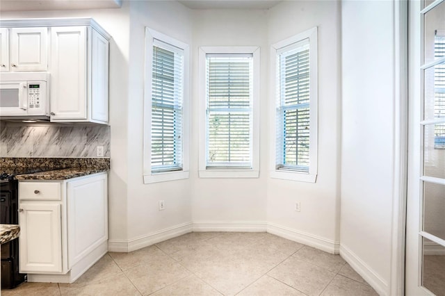
<svg viewBox="0 0 445 296"><path fill-rule="evenodd" d="M281 107L281 98L277 98L277 58L282 49L291 47L304 40L309 39L309 171L277 169L283 165L277 161L277 109ZM291 51L292 49L289 49ZM270 46L270 177L291 181L303 181L315 183L318 170L318 50L317 50L317 27L293 35Z"/></svg>

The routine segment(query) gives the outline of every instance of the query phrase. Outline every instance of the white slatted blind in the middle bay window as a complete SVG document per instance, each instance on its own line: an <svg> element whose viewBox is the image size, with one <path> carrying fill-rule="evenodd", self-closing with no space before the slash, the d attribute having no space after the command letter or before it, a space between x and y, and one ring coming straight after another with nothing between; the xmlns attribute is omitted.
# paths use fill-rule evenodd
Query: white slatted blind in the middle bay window
<svg viewBox="0 0 445 296"><path fill-rule="evenodd" d="M207 54L207 169L252 168L252 54Z"/></svg>

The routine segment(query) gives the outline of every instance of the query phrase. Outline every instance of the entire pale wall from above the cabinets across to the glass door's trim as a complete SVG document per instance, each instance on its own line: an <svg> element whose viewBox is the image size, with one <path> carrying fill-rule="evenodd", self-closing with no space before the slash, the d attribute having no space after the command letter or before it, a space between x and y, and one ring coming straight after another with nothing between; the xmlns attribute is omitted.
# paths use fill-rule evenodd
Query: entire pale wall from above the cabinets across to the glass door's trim
<svg viewBox="0 0 445 296"><path fill-rule="evenodd" d="M122 8L111 10L1 14L2 18L91 16L113 36L109 222L115 249L149 245L161 239L164 230L170 234L190 230L191 222L216 229L238 222L246 229L263 230L268 223L268 231L335 252L340 241L341 185L341 254L378 292L387 292L394 119L390 1L346 1L342 8L337 1L283 1L270 10L189 10L175 1L124 1ZM188 180L143 184L145 26L191 45ZM269 47L314 26L318 26L317 182L270 179ZM261 47L258 179L197 175L198 47L224 45ZM165 200L164 211L158 211L159 199ZM301 202L299 213L293 211L296 201Z"/></svg>

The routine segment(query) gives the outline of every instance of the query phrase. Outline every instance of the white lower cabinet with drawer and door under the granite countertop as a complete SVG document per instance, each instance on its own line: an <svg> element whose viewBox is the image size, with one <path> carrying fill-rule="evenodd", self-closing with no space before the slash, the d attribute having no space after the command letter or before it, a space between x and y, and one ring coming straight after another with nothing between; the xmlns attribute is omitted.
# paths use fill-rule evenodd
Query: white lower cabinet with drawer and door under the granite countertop
<svg viewBox="0 0 445 296"><path fill-rule="evenodd" d="M106 172L19 181L19 269L28 281L72 283L108 251Z"/></svg>

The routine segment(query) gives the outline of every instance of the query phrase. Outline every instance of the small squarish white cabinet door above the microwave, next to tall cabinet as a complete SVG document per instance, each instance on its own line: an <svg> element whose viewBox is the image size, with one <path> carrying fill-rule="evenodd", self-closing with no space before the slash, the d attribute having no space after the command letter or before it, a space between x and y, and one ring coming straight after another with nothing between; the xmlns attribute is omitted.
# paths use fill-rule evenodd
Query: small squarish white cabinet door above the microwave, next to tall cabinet
<svg viewBox="0 0 445 296"><path fill-rule="evenodd" d="M48 28L12 28L10 69L12 71L47 71Z"/></svg>

